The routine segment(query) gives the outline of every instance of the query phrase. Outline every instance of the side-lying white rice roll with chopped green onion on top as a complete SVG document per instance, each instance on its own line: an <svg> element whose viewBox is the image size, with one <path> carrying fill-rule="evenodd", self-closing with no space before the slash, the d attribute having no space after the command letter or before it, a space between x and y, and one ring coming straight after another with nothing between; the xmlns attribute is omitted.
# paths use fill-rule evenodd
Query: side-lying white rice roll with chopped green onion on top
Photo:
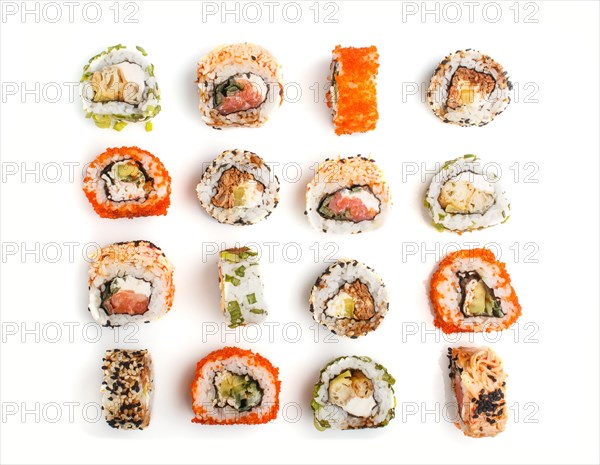
<svg viewBox="0 0 600 465"><path fill-rule="evenodd" d="M261 323L267 318L257 256L249 247L219 253L221 311L230 328Z"/></svg>

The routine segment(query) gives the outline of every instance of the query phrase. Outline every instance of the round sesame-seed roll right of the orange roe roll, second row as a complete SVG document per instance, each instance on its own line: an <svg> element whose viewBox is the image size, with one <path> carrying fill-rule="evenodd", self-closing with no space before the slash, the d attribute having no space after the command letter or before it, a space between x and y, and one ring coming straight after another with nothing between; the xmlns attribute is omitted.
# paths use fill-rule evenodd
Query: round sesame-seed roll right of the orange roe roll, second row
<svg viewBox="0 0 600 465"><path fill-rule="evenodd" d="M226 150L196 187L200 204L220 223L246 225L269 216L279 202L279 179L258 155Z"/></svg>

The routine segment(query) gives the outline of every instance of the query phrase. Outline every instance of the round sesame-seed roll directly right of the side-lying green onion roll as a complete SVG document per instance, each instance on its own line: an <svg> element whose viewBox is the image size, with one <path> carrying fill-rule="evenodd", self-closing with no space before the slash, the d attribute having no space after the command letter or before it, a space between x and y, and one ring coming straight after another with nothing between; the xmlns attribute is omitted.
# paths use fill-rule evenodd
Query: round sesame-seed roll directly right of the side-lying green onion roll
<svg viewBox="0 0 600 465"><path fill-rule="evenodd" d="M357 338L377 329L389 299L381 278L356 260L338 260L319 276L310 294L316 322L340 336Z"/></svg>

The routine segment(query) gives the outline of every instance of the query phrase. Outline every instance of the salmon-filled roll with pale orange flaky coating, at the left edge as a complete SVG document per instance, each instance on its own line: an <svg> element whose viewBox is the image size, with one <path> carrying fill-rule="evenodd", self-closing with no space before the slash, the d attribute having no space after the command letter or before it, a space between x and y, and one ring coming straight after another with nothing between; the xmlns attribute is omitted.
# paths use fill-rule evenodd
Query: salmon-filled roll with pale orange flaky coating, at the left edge
<svg viewBox="0 0 600 465"><path fill-rule="evenodd" d="M173 265L147 241L100 249L89 271L88 309L102 326L149 323L173 304Z"/></svg>

